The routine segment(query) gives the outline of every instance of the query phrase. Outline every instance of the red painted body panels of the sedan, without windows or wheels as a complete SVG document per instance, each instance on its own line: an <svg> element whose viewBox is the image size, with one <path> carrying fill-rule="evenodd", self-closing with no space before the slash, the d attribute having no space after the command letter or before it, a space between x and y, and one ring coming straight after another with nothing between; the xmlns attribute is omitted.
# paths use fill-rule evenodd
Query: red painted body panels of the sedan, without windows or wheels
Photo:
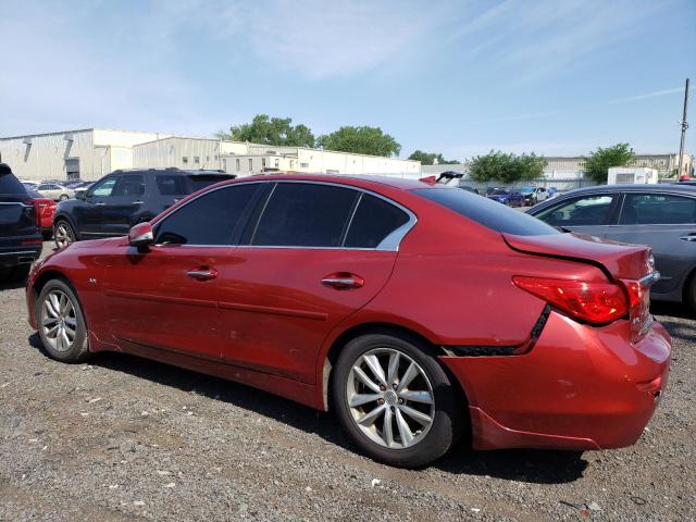
<svg viewBox="0 0 696 522"><path fill-rule="evenodd" d="M418 223L398 252L156 246L142 253L125 237L76 243L30 274L30 324L36 327L38 289L61 275L77 290L91 351L140 355L318 409L327 408L330 351L388 325L444 347L438 359L465 394L475 448L598 449L639 437L667 384L664 328L646 323L632 341L629 314L592 325L550 308L513 278L588 287L637 281L649 272L647 248L570 234L504 237L417 195L413 189L453 190L420 182L309 175L261 182L276 179L368 189L410 209ZM186 277L191 269L214 269L219 276ZM344 273L362 286L320 283ZM480 346L512 355L465 355Z"/></svg>

